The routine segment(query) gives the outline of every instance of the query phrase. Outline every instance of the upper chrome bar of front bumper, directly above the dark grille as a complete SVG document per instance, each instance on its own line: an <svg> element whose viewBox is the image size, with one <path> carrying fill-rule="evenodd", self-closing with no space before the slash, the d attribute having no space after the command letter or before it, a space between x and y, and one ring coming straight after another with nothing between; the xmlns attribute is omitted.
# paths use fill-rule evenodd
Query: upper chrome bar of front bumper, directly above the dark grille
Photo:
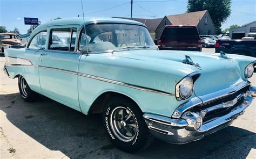
<svg viewBox="0 0 256 159"><path fill-rule="evenodd" d="M233 85L233 86L223 89L223 90L212 92L212 93L209 93L204 96L194 97L194 98L188 100L188 102L183 103L180 106L178 106L177 109L173 112L172 118L180 118L181 115L185 111L187 111L188 109L191 109L192 107L194 107L196 105L203 104L203 103L209 102L211 100L222 98L222 97L225 97L228 95L232 95L233 93L241 90L242 88L245 88L245 86L247 86L247 85L250 85L250 82L244 81L244 82L238 83L236 85Z"/></svg>

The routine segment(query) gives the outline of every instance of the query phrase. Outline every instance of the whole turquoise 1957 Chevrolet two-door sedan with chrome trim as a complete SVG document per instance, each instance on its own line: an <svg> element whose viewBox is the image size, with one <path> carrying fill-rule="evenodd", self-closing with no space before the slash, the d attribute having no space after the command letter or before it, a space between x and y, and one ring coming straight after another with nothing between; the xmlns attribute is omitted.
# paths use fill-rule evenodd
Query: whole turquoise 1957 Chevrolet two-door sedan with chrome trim
<svg viewBox="0 0 256 159"><path fill-rule="evenodd" d="M50 21L5 58L25 101L41 94L102 113L107 136L127 152L145 149L153 136L199 140L230 125L256 93L248 81L254 57L160 51L145 25L118 18Z"/></svg>

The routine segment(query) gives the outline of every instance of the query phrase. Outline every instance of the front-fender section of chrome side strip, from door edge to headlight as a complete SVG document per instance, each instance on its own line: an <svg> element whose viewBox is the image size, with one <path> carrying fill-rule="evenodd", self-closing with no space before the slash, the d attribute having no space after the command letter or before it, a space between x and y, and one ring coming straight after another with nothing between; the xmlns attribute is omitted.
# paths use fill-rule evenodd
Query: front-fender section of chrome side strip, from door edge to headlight
<svg viewBox="0 0 256 159"><path fill-rule="evenodd" d="M82 74L82 73L78 73L78 75L79 76L83 76L83 77L87 77L87 78L97 79L99 81L104 81L104 82L109 82L109 83L113 83L113 84L127 86L127 87L130 87L130 88L133 88L133 89L138 89L138 90L143 90L143 91L147 91L147 92L158 93L158 94L161 94L161 95L174 96L172 93L169 93L169 92L164 92L164 91L154 90L154 89L150 89L150 88L145 88L143 86L133 85L133 84L124 83L124 82L120 82L120 81L114 81L112 79L107 79L107 78L102 78L102 77L93 76L93 75L87 75L87 74Z"/></svg>

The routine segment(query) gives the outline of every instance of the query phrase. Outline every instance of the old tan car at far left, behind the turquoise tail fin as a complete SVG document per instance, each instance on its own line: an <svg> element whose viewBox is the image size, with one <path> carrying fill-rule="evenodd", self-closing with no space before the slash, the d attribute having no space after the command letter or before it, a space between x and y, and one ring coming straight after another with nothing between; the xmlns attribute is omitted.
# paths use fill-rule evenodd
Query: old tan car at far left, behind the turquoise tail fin
<svg viewBox="0 0 256 159"><path fill-rule="evenodd" d="M0 48L1 53L4 53L4 49L8 48L24 48L25 46L17 38L14 33L0 33Z"/></svg>

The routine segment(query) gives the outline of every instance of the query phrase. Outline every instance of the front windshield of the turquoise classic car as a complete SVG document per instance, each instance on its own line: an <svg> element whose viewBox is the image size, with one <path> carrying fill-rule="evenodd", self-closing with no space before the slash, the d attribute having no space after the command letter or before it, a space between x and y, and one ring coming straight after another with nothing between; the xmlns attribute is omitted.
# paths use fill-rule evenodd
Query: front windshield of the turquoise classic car
<svg viewBox="0 0 256 159"><path fill-rule="evenodd" d="M86 51L88 48L89 52L133 47L156 48L146 27L131 24L87 25L86 35L83 28L79 39L79 50Z"/></svg>

